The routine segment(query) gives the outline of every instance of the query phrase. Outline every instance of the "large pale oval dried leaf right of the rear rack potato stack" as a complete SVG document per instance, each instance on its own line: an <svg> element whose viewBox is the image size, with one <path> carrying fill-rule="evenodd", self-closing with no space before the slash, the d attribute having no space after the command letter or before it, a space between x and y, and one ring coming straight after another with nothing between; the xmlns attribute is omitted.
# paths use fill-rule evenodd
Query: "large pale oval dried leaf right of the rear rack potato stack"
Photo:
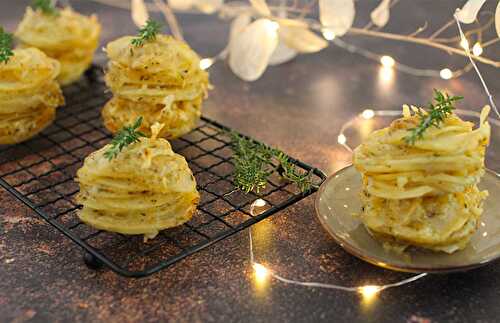
<svg viewBox="0 0 500 323"><path fill-rule="evenodd" d="M248 25L230 44L229 67L245 81L257 80L278 45L276 26L268 19Z"/></svg>

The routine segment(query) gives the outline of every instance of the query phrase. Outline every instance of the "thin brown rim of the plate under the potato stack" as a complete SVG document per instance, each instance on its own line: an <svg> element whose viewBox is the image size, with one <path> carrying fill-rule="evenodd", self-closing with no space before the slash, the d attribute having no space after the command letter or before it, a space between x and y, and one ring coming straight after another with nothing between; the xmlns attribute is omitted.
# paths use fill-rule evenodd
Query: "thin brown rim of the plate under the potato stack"
<svg viewBox="0 0 500 323"><path fill-rule="evenodd" d="M323 184L320 186L316 198L314 201L314 209L316 211L316 217L319 219L319 222L323 226L323 228L330 234L330 236L333 238L333 240L345 251L347 251L349 254L355 256L358 259L361 259L367 263L370 263L372 265L375 265L377 267L381 267L384 269L389 269L389 270L394 270L394 271L399 271L399 272L407 272L407 273L450 273L450 272L463 272L463 271L468 271L471 269L479 268L482 266L485 266L491 262L494 262L495 260L500 259L500 252L495 256L488 258L484 261L481 261L479 263L474 263L474 264L468 264L468 265L461 265L461 266L444 266L444 267L423 267L423 266L414 266L414 265L408 265L408 266L399 266L396 264L390 264L387 263L387 261L378 258L377 256L372 256L368 257L366 256L366 252L364 253L364 249L360 249L358 247L353 246L351 243L349 243L347 240L343 239L339 235L335 233L331 229L331 227L327 224L326 220L323 219L321 216L321 212L319 209L319 204L320 204L320 199L322 195L324 194L324 191L328 187L331 181L335 179L335 177L341 173L346 172L347 170L354 168L354 165L350 163L349 165L337 170L335 173L332 175L328 176L328 178L323 182ZM486 172L493 174L496 177L499 177L498 173L490 170L485 167Z"/></svg>

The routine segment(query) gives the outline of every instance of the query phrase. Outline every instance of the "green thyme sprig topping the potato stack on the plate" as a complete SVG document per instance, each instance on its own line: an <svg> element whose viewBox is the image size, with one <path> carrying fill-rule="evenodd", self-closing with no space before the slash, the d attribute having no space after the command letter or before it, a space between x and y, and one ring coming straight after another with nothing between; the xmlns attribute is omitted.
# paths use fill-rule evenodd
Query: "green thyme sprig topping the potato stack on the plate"
<svg viewBox="0 0 500 323"><path fill-rule="evenodd" d="M405 142L409 145L414 145L417 140L424 137L424 132L428 128L439 128L441 123L455 110L454 103L462 99L463 97L461 96L450 97L448 93L434 89L435 103L429 103L427 114L418 112L420 123L417 127L408 130L410 134L404 138Z"/></svg>

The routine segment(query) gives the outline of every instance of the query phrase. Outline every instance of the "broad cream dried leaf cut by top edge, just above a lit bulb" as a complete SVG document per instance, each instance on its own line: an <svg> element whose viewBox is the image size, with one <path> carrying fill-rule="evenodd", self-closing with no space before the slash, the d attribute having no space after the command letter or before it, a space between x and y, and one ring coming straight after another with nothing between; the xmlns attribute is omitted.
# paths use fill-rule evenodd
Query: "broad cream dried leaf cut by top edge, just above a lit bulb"
<svg viewBox="0 0 500 323"><path fill-rule="evenodd" d="M335 36L343 36L354 22L354 0L319 0L321 24Z"/></svg>

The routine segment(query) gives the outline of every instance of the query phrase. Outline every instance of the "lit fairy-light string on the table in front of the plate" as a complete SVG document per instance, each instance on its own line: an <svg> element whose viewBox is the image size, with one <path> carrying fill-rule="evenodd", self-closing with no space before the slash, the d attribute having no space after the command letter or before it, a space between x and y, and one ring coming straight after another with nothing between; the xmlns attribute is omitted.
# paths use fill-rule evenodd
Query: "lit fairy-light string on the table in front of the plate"
<svg viewBox="0 0 500 323"><path fill-rule="evenodd" d="M258 215L258 212L255 210L257 207L262 207L266 203L264 200L257 199L255 200L252 205L250 206L250 213L252 215ZM362 295L366 296L372 296L376 293L379 293L383 290L386 290L388 288L393 288L393 287L399 287L403 285L407 285L410 283L413 283L421 278L424 278L427 276L427 273L421 273L418 275L411 276L409 278L400 280L395 283L390 283L390 284L385 284L385 285L361 285L361 286L342 286L342 285L337 285L337 284L327 284L327 283L321 283L321 282L308 282L308 281L300 281L300 280L294 280L294 279L289 279L285 278L279 274L277 274L274 270L269 269L265 267L264 265L258 263L255 261L255 255L254 255L254 246L253 246L253 237L252 237L252 228L248 229L248 239L249 239L249 250L250 250L250 262L252 267L255 270L256 275L260 276L260 278L265 278L266 276L270 276L277 281L280 281L285 284L290 284L290 285L296 285L296 286L302 286L302 287L309 287L309 288L323 288L323 289L334 289L334 290L339 290L339 291L344 291L344 292L350 292L350 293L359 293Z"/></svg>

